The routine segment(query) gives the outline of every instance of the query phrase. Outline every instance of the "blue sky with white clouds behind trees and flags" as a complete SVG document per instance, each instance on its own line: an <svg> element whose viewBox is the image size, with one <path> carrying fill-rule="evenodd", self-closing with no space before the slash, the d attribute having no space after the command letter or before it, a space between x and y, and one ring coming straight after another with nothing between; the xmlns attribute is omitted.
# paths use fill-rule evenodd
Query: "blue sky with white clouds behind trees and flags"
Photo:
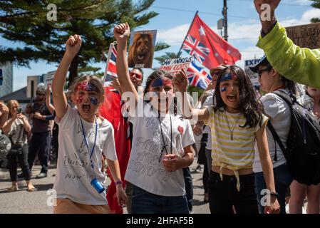
<svg viewBox="0 0 320 228"><path fill-rule="evenodd" d="M308 0L282 0L276 11L277 19L284 26L308 24L312 17L320 17L320 9L314 9L309 6L310 3ZM158 12L159 15L151 19L148 25L140 26L136 30L157 29L156 41L170 44L170 48L155 53L155 56L165 52L177 52L197 10L200 18L218 33L217 21L222 18L222 6L223 0L156 0L150 10ZM245 59L260 58L263 55L262 51L255 47L261 28L258 14L254 9L253 0L228 0L227 6L229 43L242 53L242 60L236 64L243 68ZM0 37L0 45L17 44ZM183 56L187 54L184 53ZM103 70L105 68L104 63L96 63L93 66ZM160 66L158 61L153 61L153 67L157 66ZM46 64L44 61L38 61L31 63L30 67L29 69L14 66L14 90L26 86L26 76L54 71L57 63Z"/></svg>

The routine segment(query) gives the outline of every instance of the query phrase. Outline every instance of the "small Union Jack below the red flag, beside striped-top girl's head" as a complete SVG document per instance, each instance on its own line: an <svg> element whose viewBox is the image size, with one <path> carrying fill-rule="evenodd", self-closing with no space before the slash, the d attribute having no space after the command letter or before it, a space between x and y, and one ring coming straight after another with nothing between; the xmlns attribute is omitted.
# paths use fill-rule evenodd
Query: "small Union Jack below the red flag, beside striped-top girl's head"
<svg viewBox="0 0 320 228"><path fill-rule="evenodd" d="M212 81L210 74L201 66L197 66L194 61L192 61L189 68L187 68L187 79L190 86L203 89L207 88L210 81Z"/></svg>

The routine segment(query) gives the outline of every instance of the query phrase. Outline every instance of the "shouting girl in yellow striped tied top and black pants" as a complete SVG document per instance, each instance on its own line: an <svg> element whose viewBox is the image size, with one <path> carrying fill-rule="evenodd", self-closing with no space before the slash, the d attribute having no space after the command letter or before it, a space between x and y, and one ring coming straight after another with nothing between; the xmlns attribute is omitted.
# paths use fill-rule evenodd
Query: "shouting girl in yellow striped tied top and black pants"
<svg viewBox="0 0 320 228"><path fill-rule="evenodd" d="M173 84L178 91L185 93L186 73L181 71L173 79ZM258 213L252 171L254 142L257 141L271 202L264 207L264 212L279 213L266 136L267 117L244 71L238 66L224 68L215 87L215 106L193 110L185 95L183 98L186 105L183 110L190 110L191 114L188 116L188 113L184 113L186 117L203 120L211 129L210 211L227 214L234 213L234 210L237 214Z"/></svg>

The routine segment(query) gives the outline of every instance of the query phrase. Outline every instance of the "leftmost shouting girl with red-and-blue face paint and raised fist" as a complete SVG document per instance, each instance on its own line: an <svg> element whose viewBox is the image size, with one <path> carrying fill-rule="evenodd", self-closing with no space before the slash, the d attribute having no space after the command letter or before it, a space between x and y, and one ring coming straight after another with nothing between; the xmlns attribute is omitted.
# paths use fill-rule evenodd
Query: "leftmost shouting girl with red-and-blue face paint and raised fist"
<svg viewBox="0 0 320 228"><path fill-rule="evenodd" d="M69 88L76 108L71 108L63 93L66 73L81 48L81 37L70 36L66 52L53 78L53 104L59 126L58 162L53 189L57 192L54 213L110 213L103 187L105 157L116 185L118 204L126 202L115 153L113 126L96 115L103 103L103 85L95 76L83 76Z"/></svg>

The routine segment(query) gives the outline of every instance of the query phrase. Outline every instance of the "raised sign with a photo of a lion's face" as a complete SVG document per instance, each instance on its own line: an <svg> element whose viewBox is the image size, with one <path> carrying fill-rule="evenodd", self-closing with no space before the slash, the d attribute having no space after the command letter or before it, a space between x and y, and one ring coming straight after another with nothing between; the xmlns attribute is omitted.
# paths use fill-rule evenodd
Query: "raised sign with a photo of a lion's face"
<svg viewBox="0 0 320 228"><path fill-rule="evenodd" d="M157 30L135 31L130 37L129 67L152 68Z"/></svg>

